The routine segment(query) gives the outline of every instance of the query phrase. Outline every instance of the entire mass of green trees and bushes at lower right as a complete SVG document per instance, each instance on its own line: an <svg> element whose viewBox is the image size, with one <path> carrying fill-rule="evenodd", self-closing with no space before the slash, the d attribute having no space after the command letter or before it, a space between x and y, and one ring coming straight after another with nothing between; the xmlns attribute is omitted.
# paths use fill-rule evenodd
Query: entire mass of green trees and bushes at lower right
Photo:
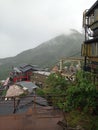
<svg viewBox="0 0 98 130"><path fill-rule="evenodd" d="M48 94L47 100L64 112L70 126L98 130L98 88L92 82L91 74L78 72L73 82L66 81L60 73L51 74L47 85L41 94Z"/></svg>

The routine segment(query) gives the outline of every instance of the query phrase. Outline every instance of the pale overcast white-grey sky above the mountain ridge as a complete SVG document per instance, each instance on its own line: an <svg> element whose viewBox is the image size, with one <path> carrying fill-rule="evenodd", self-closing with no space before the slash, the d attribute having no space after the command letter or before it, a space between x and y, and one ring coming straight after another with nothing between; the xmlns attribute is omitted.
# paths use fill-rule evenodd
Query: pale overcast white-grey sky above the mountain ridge
<svg viewBox="0 0 98 130"><path fill-rule="evenodd" d="M0 58L35 48L70 29L96 0L0 0Z"/></svg>

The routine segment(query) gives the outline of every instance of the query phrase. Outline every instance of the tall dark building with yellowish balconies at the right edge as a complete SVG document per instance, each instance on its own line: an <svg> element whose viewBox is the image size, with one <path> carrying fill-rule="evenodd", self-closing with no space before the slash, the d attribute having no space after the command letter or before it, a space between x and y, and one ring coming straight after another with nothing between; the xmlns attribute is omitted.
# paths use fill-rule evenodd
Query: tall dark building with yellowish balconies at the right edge
<svg viewBox="0 0 98 130"><path fill-rule="evenodd" d="M84 70L98 77L98 1L83 13L83 27L85 40L82 44L82 56L84 56Z"/></svg>

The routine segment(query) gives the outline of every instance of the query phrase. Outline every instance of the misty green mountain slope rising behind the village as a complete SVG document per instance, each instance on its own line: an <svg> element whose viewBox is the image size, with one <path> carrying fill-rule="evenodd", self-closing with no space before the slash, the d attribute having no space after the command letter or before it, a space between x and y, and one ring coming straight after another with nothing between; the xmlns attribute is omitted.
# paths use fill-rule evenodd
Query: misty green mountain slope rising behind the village
<svg viewBox="0 0 98 130"><path fill-rule="evenodd" d="M83 39L83 34L72 30L69 35L57 36L36 48L23 51L15 57L0 59L0 79L8 76L12 66L26 63L51 67L62 57L80 56Z"/></svg>

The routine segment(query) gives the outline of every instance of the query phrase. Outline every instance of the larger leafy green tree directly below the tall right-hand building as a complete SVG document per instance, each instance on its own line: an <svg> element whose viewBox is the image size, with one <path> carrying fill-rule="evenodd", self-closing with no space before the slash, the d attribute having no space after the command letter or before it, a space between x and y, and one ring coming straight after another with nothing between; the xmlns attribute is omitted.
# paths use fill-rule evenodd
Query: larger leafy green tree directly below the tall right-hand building
<svg viewBox="0 0 98 130"><path fill-rule="evenodd" d="M89 76L89 73L78 72L76 83L68 87L65 103L67 110L97 113L98 89L87 75Z"/></svg>

